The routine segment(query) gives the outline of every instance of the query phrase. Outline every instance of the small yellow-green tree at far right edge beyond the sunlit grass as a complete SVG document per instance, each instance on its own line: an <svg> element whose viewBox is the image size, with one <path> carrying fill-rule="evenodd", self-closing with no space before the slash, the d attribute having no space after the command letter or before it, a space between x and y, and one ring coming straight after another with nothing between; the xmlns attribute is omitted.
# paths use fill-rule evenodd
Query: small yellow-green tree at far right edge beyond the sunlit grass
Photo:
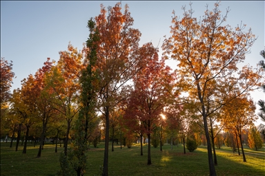
<svg viewBox="0 0 265 176"><path fill-rule="evenodd" d="M251 149L255 149L256 151L259 148L262 148L262 137L260 137L259 131L255 126L251 126L251 129L248 133L248 146Z"/></svg>

